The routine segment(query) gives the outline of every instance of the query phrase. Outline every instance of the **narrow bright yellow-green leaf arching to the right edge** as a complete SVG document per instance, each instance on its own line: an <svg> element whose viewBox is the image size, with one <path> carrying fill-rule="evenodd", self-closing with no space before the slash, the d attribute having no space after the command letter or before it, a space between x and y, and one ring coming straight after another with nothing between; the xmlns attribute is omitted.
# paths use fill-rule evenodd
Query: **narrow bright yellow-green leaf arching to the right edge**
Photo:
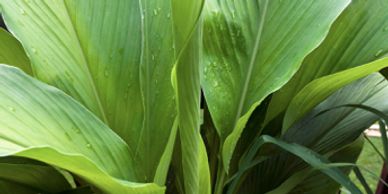
<svg viewBox="0 0 388 194"><path fill-rule="evenodd" d="M388 58L327 75L310 82L291 101L283 122L283 132L313 107L345 85L388 67Z"/></svg>

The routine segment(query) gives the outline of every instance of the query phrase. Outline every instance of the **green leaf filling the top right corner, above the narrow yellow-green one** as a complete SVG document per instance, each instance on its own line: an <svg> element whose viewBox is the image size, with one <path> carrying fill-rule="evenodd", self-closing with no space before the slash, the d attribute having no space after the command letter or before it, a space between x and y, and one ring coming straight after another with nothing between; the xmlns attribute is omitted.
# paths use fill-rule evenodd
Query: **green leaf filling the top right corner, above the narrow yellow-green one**
<svg viewBox="0 0 388 194"><path fill-rule="evenodd" d="M352 0L335 21L323 43L270 104L268 123L287 109L291 99L309 82L322 76L370 63L388 52L388 3Z"/></svg>

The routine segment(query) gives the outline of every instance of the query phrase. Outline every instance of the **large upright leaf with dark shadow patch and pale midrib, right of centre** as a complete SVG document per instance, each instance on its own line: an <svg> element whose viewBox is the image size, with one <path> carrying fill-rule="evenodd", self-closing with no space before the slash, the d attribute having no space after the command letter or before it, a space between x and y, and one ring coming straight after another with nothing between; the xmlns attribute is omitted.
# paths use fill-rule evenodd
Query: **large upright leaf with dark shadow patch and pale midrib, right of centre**
<svg viewBox="0 0 388 194"><path fill-rule="evenodd" d="M222 154L226 171L253 110L287 83L349 3L207 1L202 87L225 141Z"/></svg>

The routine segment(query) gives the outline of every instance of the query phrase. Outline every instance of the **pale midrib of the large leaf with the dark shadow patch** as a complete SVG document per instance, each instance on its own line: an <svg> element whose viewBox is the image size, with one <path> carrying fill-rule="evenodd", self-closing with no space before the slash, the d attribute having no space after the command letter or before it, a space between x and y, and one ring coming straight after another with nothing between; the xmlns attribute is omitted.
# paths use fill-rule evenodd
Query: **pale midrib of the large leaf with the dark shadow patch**
<svg viewBox="0 0 388 194"><path fill-rule="evenodd" d="M257 31L257 35L256 35L256 40L255 40L255 46L253 48L253 52L252 52L252 56L251 56L251 59L250 59L250 62L249 62L249 66L248 66L248 74L246 76L246 79L245 79L245 82L244 82L244 86L243 86L243 90L241 92L241 96L240 96L240 102L239 102L239 105L237 107L237 112L236 112L236 117L234 119L234 123L233 123L233 128L236 128L236 125L241 117L241 114L242 114L242 110L243 110L243 107L245 105L245 99L246 99L246 95L247 95L247 92L248 92L248 87L249 87L249 84L250 84L250 81L251 81L251 77L252 77L252 69L253 69L253 66L255 64L255 61L257 59L257 54L259 52L259 46L260 46L260 41L261 41L261 37L262 37L262 32L263 32L263 28L264 28L264 22L265 22L265 16L267 14L267 7L268 7L268 0L264 0L264 6L263 6L263 9L260 9L260 12L261 12L261 17L260 17L260 25L259 25L259 29Z"/></svg>

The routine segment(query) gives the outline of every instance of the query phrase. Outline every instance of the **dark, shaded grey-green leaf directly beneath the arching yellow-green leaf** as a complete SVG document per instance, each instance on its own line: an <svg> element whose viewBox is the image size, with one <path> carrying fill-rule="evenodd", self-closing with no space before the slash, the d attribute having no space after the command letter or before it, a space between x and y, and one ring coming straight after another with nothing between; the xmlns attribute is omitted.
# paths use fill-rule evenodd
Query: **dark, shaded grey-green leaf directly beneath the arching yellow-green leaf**
<svg viewBox="0 0 388 194"><path fill-rule="evenodd" d="M388 112L388 82L378 73L336 91L283 135L319 153L328 153L353 142L379 117L347 104ZM304 135L301 135L304 134Z"/></svg>

